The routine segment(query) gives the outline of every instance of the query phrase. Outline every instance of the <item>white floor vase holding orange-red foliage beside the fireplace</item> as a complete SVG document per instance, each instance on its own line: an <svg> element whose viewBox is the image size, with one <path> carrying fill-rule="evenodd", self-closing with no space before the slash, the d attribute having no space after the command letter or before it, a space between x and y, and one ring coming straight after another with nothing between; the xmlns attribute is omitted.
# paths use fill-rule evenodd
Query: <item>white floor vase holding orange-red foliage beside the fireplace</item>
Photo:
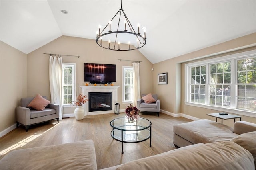
<svg viewBox="0 0 256 170"><path fill-rule="evenodd" d="M82 120L84 119L84 108L83 104L86 103L88 99L86 98L85 95L79 94L79 96L76 98L76 101L72 101L71 104L73 106L76 106L77 108L75 109L75 117L76 120Z"/></svg>

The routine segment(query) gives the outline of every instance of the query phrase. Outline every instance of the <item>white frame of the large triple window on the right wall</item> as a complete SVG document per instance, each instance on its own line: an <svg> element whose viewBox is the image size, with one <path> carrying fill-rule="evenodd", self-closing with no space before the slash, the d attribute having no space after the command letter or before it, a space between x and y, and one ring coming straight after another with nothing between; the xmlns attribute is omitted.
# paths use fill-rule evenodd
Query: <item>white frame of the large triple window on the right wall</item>
<svg viewBox="0 0 256 170"><path fill-rule="evenodd" d="M242 53L236 53L232 55L226 55L222 57L216 57L213 59L206 59L203 61L198 61L194 63L188 63L185 64L185 104L189 106L196 106L196 107L203 107L206 109L214 109L218 111L223 111L223 112L228 112L228 113L234 113L238 115L245 115L245 116L250 116L250 117L256 117L255 111L248 111L248 110L241 110L241 109L236 109L235 108L235 102L236 102L236 70L237 70L237 65L236 65L236 59L242 59L246 57L252 57L256 55L256 50L252 51L246 51ZM222 107L222 106L213 106L209 105L209 80L208 80L208 75L209 75L209 65L212 63L218 63L218 62L226 62L226 61L231 61L231 105L230 107ZM200 103L195 103L195 102L190 102L190 67L195 67L195 66L202 66L203 64L206 65L206 102L205 104L200 104ZM205 113L206 114L206 113Z"/></svg>

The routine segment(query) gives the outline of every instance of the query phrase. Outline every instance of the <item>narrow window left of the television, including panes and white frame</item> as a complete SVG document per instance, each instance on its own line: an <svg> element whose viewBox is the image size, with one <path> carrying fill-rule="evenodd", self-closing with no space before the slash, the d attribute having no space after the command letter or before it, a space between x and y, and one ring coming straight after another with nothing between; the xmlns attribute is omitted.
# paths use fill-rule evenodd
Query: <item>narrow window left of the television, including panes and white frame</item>
<svg viewBox="0 0 256 170"><path fill-rule="evenodd" d="M62 63L62 104L71 104L75 101L75 63Z"/></svg>

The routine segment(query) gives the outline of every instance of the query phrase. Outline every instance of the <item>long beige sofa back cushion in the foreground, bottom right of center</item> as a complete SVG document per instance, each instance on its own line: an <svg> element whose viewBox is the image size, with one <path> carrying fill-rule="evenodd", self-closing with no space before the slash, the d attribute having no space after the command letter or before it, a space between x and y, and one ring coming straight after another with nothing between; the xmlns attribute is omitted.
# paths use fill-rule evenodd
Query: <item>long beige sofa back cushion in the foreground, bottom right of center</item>
<svg viewBox="0 0 256 170"><path fill-rule="evenodd" d="M122 164L116 170L253 170L252 154L234 142L196 144Z"/></svg>

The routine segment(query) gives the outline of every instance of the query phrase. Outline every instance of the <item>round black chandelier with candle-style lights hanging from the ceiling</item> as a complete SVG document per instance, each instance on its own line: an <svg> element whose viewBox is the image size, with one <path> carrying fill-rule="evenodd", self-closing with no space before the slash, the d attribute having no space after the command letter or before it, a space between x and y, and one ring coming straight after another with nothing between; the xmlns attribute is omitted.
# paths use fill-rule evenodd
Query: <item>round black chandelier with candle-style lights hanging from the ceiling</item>
<svg viewBox="0 0 256 170"><path fill-rule="evenodd" d="M118 10L118 12L114 15L114 17L110 20L110 22L116 17L116 15L120 12L120 15L119 15L119 20L118 20L118 26L117 26L117 31L111 31L111 24L108 23L104 29L102 31L100 31L100 28L99 28L99 32L96 36L96 43L104 48L104 49L109 49L109 50L114 50L114 51L130 51L130 50L136 50L136 49L140 49L141 47L144 47L144 45L146 45L146 31L144 31L144 36L142 36L139 32L139 27L138 27L138 33L136 33L134 31L134 28L132 27L132 24L130 23L129 19L127 18L123 8L122 8L122 0L121 0L121 8ZM118 31L119 29L119 24L120 24L120 18L121 18L121 14L123 12L123 15L124 15L124 18L128 24L128 27L130 28L130 31L126 30L126 26L125 26L125 30L124 31ZM109 31L106 32L106 33L103 33L104 30L109 26ZM134 36L136 36L137 38L137 47L135 48L130 48L130 44L128 45L128 49L120 49L120 44L118 42L118 48L116 47L116 40L117 40L117 37L118 37L118 33L124 33L124 34L132 34ZM108 42L108 47L104 47L104 45L102 45L102 37L104 37L105 35L109 35L109 34L116 34L116 38L115 38L115 42L114 42L114 48L110 48L110 42ZM140 38L141 39L140 39ZM143 42L142 42L143 40Z"/></svg>

